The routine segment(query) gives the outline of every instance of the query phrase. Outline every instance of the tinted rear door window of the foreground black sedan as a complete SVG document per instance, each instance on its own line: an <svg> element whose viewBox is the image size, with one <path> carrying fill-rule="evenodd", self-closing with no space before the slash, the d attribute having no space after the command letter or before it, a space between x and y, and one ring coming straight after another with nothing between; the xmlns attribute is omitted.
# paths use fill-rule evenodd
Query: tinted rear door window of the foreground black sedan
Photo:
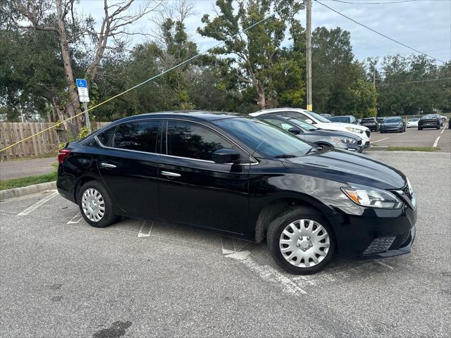
<svg viewBox="0 0 451 338"><path fill-rule="evenodd" d="M159 125L159 120L122 123L113 136L113 147L155 153Z"/></svg>

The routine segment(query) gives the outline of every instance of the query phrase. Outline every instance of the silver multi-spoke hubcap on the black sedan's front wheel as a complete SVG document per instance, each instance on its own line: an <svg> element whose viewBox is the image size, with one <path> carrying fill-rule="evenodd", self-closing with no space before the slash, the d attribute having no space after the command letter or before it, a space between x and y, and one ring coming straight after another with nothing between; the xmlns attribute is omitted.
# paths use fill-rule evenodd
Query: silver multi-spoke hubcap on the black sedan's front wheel
<svg viewBox="0 0 451 338"><path fill-rule="evenodd" d="M279 248L283 258L299 268L321 263L329 246L328 232L315 220L295 220L280 234Z"/></svg>

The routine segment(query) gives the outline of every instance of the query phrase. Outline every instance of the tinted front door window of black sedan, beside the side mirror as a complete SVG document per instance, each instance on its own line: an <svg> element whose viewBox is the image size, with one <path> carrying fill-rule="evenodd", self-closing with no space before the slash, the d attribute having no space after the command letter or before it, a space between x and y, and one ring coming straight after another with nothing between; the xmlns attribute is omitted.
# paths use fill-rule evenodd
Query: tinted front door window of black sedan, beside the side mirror
<svg viewBox="0 0 451 338"><path fill-rule="evenodd" d="M166 147L168 155L206 161L213 161L213 153L218 149L234 148L233 144L202 125L178 121L168 121Z"/></svg>

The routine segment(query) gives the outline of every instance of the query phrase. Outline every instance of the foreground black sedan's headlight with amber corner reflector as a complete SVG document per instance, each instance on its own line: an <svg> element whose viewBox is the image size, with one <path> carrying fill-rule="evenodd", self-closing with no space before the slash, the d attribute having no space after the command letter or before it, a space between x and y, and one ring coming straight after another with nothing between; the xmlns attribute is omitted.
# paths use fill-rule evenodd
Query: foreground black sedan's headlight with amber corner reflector
<svg viewBox="0 0 451 338"><path fill-rule="evenodd" d="M360 206L372 208L393 208L402 206L402 201L391 192L373 187L342 187L342 192Z"/></svg>

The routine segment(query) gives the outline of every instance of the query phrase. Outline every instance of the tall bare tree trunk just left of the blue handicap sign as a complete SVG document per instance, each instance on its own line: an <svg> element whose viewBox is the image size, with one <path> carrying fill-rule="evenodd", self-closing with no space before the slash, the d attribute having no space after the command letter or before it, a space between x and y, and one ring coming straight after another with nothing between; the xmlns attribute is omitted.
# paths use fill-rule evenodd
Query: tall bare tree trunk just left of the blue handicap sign
<svg viewBox="0 0 451 338"><path fill-rule="evenodd" d="M65 109L66 118L75 116L81 113L80 100L78 99L78 92L75 89L75 81L73 78L72 64L70 62L68 37L66 35L66 26L64 25L65 14L61 9L61 0L56 0L56 13L58 16L58 35L61 44L61 56L63 58L64 73L66 74L66 81L68 83L68 92L70 97L70 104ZM83 127L82 115L73 119L71 122L75 125L78 132Z"/></svg>

